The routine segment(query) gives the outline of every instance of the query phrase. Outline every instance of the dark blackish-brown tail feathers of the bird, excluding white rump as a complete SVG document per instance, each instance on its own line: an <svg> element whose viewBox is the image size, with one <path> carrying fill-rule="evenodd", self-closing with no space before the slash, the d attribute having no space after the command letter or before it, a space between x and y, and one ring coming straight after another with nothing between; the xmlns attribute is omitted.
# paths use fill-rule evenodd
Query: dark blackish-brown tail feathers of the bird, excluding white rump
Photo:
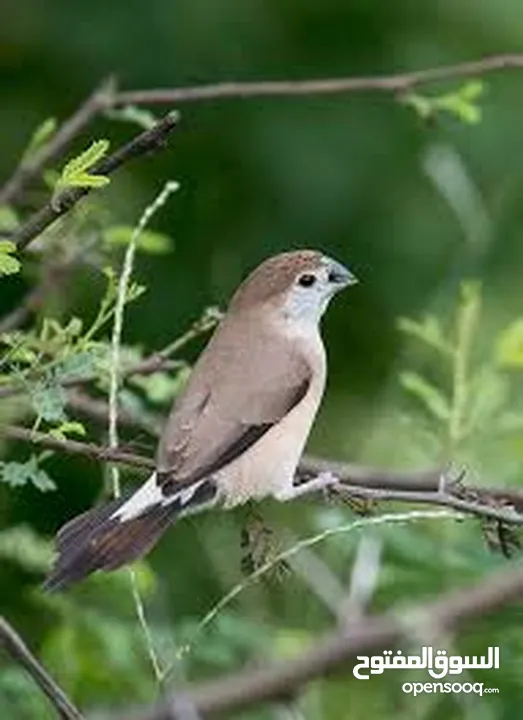
<svg viewBox="0 0 523 720"><path fill-rule="evenodd" d="M115 570L145 555L177 513L173 505L154 505L122 520L112 514L128 498L89 510L63 526L57 535L58 558L43 588L60 590L95 570Z"/></svg>

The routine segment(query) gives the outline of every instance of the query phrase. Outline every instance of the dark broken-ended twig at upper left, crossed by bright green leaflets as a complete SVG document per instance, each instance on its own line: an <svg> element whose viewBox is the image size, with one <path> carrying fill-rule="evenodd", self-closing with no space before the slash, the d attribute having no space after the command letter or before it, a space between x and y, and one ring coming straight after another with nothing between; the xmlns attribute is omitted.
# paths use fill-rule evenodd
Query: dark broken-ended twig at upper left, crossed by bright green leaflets
<svg viewBox="0 0 523 720"><path fill-rule="evenodd" d="M177 122L176 113L168 113L150 130L137 135L123 147L93 165L89 171L96 175L111 175L123 164L134 158L153 152L162 147ZM11 236L18 250L25 249L29 243L42 233L51 223L65 215L76 203L91 192L88 187L74 187L64 190L58 197L49 201L38 210Z"/></svg>

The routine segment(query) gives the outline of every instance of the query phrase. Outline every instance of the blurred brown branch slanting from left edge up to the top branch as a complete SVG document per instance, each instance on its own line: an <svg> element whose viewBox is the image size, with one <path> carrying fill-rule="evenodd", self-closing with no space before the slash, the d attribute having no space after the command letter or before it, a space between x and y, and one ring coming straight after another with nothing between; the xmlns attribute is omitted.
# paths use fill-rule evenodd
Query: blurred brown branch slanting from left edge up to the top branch
<svg viewBox="0 0 523 720"><path fill-rule="evenodd" d="M49 142L28 159L22 160L9 180L0 188L0 205L16 202L27 185L64 151L100 110L112 105L115 90L113 78L104 80L78 110L60 126Z"/></svg>

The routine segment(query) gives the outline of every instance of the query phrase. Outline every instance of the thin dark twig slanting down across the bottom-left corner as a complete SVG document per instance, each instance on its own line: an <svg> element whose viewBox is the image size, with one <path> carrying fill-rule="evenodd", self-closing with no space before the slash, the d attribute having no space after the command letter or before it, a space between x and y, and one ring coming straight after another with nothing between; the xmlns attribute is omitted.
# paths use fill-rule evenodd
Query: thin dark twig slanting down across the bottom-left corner
<svg viewBox="0 0 523 720"><path fill-rule="evenodd" d="M36 659L12 625L1 615L0 647L4 647L13 660L27 670L63 720L82 720L83 715L80 711L76 709L41 662Z"/></svg>

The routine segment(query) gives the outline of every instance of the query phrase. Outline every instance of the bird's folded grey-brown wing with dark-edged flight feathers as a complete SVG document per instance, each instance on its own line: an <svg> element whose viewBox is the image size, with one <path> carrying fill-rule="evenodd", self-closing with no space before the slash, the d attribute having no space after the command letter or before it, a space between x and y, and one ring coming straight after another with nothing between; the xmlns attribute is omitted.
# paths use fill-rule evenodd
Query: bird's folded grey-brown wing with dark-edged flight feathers
<svg viewBox="0 0 523 720"><path fill-rule="evenodd" d="M157 456L164 494L245 452L300 402L311 376L309 363L286 338L264 336L249 323L239 328L238 321L231 334L223 324L164 429Z"/></svg>

